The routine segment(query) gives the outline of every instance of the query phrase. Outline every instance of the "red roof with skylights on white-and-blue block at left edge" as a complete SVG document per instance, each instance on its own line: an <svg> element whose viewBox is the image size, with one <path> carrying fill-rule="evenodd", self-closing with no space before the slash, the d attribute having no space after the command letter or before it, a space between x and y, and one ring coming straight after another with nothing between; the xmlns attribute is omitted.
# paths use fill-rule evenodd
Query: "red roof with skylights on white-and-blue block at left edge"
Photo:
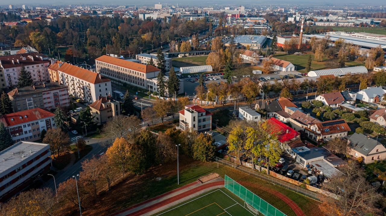
<svg viewBox="0 0 386 216"><path fill-rule="evenodd" d="M1 121L3 121L5 126L14 126L51 116L54 116L54 113L51 113L46 109L34 108L31 110L24 110L16 113L3 115Z"/></svg>

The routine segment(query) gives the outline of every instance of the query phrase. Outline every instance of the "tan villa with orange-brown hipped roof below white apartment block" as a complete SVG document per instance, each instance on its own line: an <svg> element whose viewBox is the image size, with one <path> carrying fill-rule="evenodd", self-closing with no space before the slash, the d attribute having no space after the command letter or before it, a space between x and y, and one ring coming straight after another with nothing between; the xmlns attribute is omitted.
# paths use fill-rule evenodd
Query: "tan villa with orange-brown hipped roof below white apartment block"
<svg viewBox="0 0 386 216"><path fill-rule="evenodd" d="M90 107L91 114L94 116L94 121L98 125L102 125L108 119L121 114L120 102L108 96L100 96L97 101L88 106Z"/></svg>

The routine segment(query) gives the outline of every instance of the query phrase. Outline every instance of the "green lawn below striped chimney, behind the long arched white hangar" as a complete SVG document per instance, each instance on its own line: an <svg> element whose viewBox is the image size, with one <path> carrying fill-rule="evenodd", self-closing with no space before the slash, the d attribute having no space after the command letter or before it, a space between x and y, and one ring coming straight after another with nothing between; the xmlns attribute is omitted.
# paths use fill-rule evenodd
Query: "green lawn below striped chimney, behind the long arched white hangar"
<svg viewBox="0 0 386 216"><path fill-rule="evenodd" d="M307 62L308 62L308 56L311 55L312 57L312 64L311 64L311 70L322 70L327 69L325 65L325 61L327 60L326 57L323 58L323 61L317 62L314 60L314 54L313 53L307 53L305 55L276 55L275 58L279 58L281 60L290 61L293 63L293 65L296 66L296 70L299 72L305 73ZM361 63L355 62L355 61L347 61L347 66L359 66L363 65Z"/></svg>

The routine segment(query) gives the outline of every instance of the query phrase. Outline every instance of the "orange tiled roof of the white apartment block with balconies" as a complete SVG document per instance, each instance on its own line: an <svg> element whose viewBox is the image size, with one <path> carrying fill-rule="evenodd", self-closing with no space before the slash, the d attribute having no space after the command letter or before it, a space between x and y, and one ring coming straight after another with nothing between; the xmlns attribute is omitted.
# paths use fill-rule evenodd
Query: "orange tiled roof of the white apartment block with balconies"
<svg viewBox="0 0 386 216"><path fill-rule="evenodd" d="M93 84L111 81L108 78L101 76L97 72L80 68L78 66L71 65L69 63L63 63L63 65L60 66L58 71L69 74L71 76L75 76L76 78L85 80L86 82L93 83Z"/></svg>

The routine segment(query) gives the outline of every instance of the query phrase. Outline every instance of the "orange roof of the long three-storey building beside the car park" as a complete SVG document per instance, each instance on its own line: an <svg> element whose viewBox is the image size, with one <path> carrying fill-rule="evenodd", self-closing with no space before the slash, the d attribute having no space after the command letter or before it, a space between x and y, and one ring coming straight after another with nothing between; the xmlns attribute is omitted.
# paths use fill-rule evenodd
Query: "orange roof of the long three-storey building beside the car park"
<svg viewBox="0 0 386 216"><path fill-rule="evenodd" d="M127 60L124 60L124 59L121 59L121 58L114 58L114 57L111 57L111 56L108 56L108 55L102 55L102 56L98 57L95 60L96 61L103 61L105 63L109 63L109 64L112 64L112 65L117 65L117 66L120 66L120 67L123 67L123 68L128 68L128 69L139 71L139 72L142 72L142 73L150 73L150 72L154 72L154 71L159 71L158 68L156 68L156 67L154 67L152 65L144 65L144 64L141 64L141 63L127 61Z"/></svg>

